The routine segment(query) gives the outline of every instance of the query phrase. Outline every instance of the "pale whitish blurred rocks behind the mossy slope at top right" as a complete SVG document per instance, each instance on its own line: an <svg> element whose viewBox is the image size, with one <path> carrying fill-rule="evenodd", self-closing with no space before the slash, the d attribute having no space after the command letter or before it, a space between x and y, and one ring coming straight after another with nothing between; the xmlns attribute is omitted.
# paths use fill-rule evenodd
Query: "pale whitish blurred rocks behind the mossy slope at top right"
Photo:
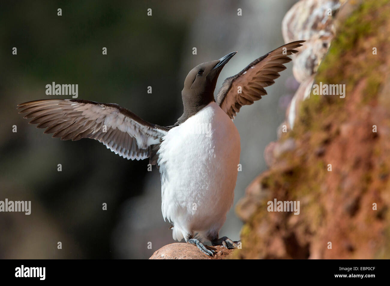
<svg viewBox="0 0 390 286"><path fill-rule="evenodd" d="M287 126L287 130L293 129L301 102L310 95L314 75L335 36L335 15L345 2L346 0L301 0L283 18L284 42L306 41L299 52L293 55L294 77L301 85L287 108L286 121L281 125ZM278 132L278 138L280 135Z"/></svg>

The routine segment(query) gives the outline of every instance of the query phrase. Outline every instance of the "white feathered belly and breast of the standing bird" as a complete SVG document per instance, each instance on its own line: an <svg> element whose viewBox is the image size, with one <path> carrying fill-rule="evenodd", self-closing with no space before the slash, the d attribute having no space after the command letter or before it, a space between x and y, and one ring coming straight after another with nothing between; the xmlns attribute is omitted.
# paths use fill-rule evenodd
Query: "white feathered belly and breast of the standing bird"
<svg viewBox="0 0 390 286"><path fill-rule="evenodd" d="M233 204L240 137L212 102L163 138L158 165L161 210L174 223L173 238L215 237Z"/></svg>

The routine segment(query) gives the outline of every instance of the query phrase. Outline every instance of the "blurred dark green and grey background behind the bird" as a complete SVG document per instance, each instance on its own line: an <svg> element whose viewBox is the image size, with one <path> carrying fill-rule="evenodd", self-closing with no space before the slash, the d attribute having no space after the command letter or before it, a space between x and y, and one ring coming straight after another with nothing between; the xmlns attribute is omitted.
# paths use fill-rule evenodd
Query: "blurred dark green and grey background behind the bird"
<svg viewBox="0 0 390 286"><path fill-rule="evenodd" d="M295 2L2 2L0 200L30 200L32 211L0 213L0 258L149 258L174 242L161 214L156 167L147 172L148 160L125 160L95 140L51 139L22 119L17 104L71 98L46 95L45 86L78 84L78 98L117 103L151 123L172 125L183 112L187 73L238 51L223 68L216 94L226 77L284 44L281 22ZM234 120L242 164L235 202L266 170L264 148L277 138L298 87L291 68L287 64L268 95ZM238 240L241 226L233 207L220 236Z"/></svg>

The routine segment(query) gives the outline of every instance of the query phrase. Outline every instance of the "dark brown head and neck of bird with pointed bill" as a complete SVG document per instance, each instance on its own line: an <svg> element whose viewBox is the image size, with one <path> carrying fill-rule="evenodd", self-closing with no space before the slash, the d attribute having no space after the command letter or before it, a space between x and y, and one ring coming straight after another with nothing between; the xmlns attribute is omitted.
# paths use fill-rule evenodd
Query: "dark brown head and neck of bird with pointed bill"
<svg viewBox="0 0 390 286"><path fill-rule="evenodd" d="M177 120L183 123L190 116L214 101L214 90L223 66L236 54L232 52L216 61L208 61L194 67L184 81L181 91L184 113Z"/></svg>

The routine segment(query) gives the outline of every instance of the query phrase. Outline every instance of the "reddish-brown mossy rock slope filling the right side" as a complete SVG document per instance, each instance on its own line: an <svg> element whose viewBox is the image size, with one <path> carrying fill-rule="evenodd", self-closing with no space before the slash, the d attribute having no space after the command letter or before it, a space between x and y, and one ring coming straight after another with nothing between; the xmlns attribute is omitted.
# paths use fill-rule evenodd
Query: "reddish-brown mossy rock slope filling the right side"
<svg viewBox="0 0 390 286"><path fill-rule="evenodd" d="M233 258L390 258L390 3L345 7L314 80L345 96L311 93L269 146L271 167L237 205ZM275 198L299 201L299 214L270 212Z"/></svg>

